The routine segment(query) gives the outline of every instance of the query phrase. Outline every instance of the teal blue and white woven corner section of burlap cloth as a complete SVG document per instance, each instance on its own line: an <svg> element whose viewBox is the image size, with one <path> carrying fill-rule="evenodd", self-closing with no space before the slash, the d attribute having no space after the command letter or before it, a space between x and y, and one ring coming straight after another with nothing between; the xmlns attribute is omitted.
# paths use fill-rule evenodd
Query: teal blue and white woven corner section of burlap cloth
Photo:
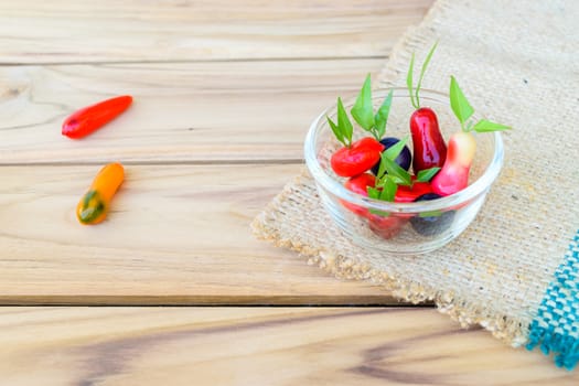
<svg viewBox="0 0 579 386"><path fill-rule="evenodd" d="M540 345L555 364L573 369L579 362L579 230L569 245L564 262L529 326L527 349Z"/></svg>

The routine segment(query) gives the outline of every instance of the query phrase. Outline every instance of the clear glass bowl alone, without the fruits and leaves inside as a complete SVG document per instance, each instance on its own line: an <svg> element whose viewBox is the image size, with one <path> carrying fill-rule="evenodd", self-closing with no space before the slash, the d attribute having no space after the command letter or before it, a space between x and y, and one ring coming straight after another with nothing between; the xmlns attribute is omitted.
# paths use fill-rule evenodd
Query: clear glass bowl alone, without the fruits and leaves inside
<svg viewBox="0 0 579 386"><path fill-rule="evenodd" d="M415 108L406 88L394 88L386 137L401 139L410 135L409 119ZM376 110L389 89L374 90ZM350 114L355 98L344 100ZM448 143L460 130L453 116L449 96L428 89L420 90L422 107L432 108L440 131ZM326 116L336 121L336 107L323 111L311 125L305 138L305 164L313 179L322 205L343 234L357 245L388 255L419 255L432 251L459 236L479 213L486 194L503 165L503 141L498 132L476 133L476 152L472 163L469 186L452 195L412 203L390 203L373 200L344 187L347 179L336 175L330 167L332 154L342 147L329 127ZM475 116L473 119L479 119ZM371 136L354 125L353 140ZM411 138L407 146L412 151ZM414 154L414 151L412 151Z"/></svg>

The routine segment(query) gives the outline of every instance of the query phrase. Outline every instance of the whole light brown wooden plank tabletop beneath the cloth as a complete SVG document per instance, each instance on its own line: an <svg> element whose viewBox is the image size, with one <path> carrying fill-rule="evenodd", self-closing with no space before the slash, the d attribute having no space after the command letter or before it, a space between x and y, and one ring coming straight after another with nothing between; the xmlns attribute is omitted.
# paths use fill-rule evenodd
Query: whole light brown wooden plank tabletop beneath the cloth
<svg viewBox="0 0 579 386"><path fill-rule="evenodd" d="M312 118L430 3L2 1L0 384L577 385L250 234ZM61 136L119 94L135 96L119 119ZM127 171L112 213L81 226L111 160Z"/></svg>

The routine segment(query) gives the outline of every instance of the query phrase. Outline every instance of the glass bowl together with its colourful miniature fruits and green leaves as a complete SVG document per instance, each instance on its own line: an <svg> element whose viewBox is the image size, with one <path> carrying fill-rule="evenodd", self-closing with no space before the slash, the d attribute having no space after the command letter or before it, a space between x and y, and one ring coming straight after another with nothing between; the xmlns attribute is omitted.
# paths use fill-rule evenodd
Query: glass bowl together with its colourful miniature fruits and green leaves
<svg viewBox="0 0 579 386"><path fill-rule="evenodd" d="M356 97L320 114L304 142L332 221L353 243L390 255L438 249L474 221L510 129L475 112L454 77L449 94L420 89L421 81L372 90L368 76Z"/></svg>

